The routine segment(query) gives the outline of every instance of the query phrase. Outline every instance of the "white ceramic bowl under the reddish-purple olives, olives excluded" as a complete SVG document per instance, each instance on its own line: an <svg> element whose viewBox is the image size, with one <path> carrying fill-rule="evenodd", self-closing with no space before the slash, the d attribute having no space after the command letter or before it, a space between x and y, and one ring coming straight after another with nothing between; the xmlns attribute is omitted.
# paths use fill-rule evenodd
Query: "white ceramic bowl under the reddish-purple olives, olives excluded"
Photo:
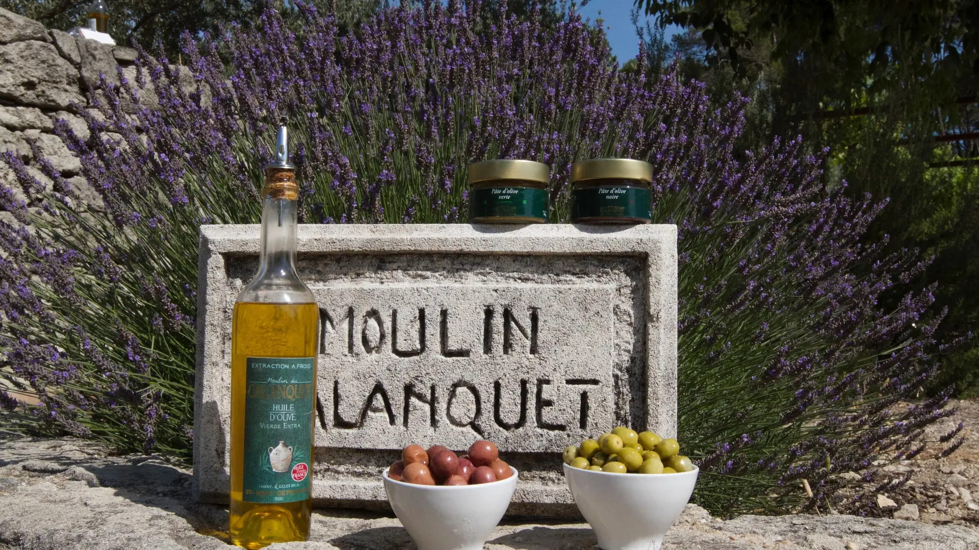
<svg viewBox="0 0 979 550"><path fill-rule="evenodd" d="M418 550L483 550L517 488L517 470L478 485L416 485L382 474L388 502Z"/></svg>

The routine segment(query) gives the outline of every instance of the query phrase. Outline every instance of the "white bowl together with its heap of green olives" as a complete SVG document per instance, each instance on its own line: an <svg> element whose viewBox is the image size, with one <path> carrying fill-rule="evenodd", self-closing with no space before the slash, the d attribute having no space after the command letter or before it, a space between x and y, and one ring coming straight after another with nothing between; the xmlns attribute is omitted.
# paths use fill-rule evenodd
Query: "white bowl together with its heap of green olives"
<svg viewBox="0 0 979 550"><path fill-rule="evenodd" d="M564 475L602 550L658 550L700 469L672 437L619 427L564 450Z"/></svg>

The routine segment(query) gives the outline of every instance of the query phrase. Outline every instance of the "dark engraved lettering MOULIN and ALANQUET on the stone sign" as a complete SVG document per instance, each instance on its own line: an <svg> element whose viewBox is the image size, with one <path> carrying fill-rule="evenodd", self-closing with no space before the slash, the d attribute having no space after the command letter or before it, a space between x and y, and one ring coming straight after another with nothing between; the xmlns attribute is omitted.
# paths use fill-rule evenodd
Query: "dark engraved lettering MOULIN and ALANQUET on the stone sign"
<svg viewBox="0 0 979 550"><path fill-rule="evenodd" d="M479 355L523 355L538 354L540 337L540 308L530 306L519 310L511 307L486 306L483 311L482 345L475 348L451 342L451 323L454 319L448 308L419 307L410 310L398 308L369 308L357 309L353 306L346 308L320 308L320 348L326 347L327 339L340 336L345 338L347 355L390 353L396 358L418 356L441 356L444 358L466 359L477 358ZM411 325L410 333L405 328ZM436 327L432 325L435 324ZM501 325L501 327L500 327ZM498 330L501 328L501 331ZM433 330L435 329L435 330ZM432 339L432 336L436 337ZM494 335L502 333L502 338ZM434 342L432 341L434 340ZM460 369L465 365L460 362ZM444 382L420 386L413 382L397 384L378 380L372 390L366 395L350 395L342 382L334 379L332 389L332 411L319 411L320 425L324 430L358 430L364 426L370 413L387 416L391 426L400 424L408 428L408 422L415 415L425 414L432 428L438 428L441 422L451 426L469 427L478 435L484 435L486 422L492 422L496 427L507 432L522 428L536 428L551 432L565 432L569 428L585 430L588 427L589 390L597 390L601 382L592 378L561 378L553 376L536 379L521 378L505 382L497 379L493 382L491 392L481 391L476 385L465 382ZM519 413L514 418L504 419L501 412L501 395L505 384L512 384L514 389L519 384L520 406ZM573 424L548 422L545 420L546 409L554 407L553 399L546 396L548 387L558 385L574 387L578 395L577 417ZM400 402L403 407L393 405L393 392L400 392L403 397ZM532 396L533 393L533 396ZM359 401L362 405L359 414L345 417L341 413L341 402L347 399ZM360 399L363 399L360 401ZM467 418L459 418L452 413L453 402L465 399L474 403L475 410L470 407ZM492 417L489 418L489 408ZM530 409L533 407L533 413ZM400 408L401 410L396 410ZM420 410L419 410L420 409ZM530 414L529 414L530 413Z"/></svg>

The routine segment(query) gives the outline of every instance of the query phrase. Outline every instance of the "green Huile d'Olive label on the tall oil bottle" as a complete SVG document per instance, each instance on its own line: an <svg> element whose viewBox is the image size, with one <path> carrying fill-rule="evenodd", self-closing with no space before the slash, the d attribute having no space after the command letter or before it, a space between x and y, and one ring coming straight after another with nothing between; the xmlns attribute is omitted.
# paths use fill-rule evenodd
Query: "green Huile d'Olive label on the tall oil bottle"
<svg viewBox="0 0 979 550"><path fill-rule="evenodd" d="M242 500L311 496L313 357L249 357Z"/></svg>

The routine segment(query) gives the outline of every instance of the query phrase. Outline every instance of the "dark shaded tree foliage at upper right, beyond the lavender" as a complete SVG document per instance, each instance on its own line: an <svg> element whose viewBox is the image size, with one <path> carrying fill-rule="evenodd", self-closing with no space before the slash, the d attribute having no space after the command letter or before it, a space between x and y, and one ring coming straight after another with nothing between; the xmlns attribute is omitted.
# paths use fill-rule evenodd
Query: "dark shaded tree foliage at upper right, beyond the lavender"
<svg viewBox="0 0 979 550"><path fill-rule="evenodd" d="M889 198L870 232L887 237L890 250L934 256L923 277L939 282L936 297L950 308L940 339L979 326L979 261L962 253L979 242L974 2L636 5L661 24L687 27L666 45L685 75L707 82L715 98L752 97L742 145L802 134L814 149L831 150L827 182L845 182L852 197ZM935 388L968 384L977 355L964 347L948 357Z"/></svg>

